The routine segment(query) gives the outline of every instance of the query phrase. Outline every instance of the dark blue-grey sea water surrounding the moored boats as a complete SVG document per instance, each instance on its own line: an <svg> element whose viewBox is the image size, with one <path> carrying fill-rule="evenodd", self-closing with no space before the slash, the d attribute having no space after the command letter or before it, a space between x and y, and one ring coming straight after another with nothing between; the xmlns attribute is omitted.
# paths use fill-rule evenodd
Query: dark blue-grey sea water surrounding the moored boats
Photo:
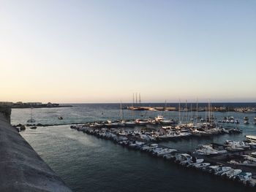
<svg viewBox="0 0 256 192"><path fill-rule="evenodd" d="M123 104L123 107L129 104ZM143 104L145 106L164 106L165 104ZM207 104L199 104L200 107ZM212 106L255 107L249 103L221 103ZM37 151L41 158L58 174L72 191L255 191L241 184L203 172L172 164L146 153L129 150L105 139L84 134L70 128L72 123L85 123L99 120L120 119L120 104L72 104L73 107L12 109L11 123L26 124L33 118L37 123L56 126L26 128L21 136ZM178 104L167 104L177 107ZM183 104L184 106L184 104ZM124 118L148 118L163 115L165 118L184 120L195 116L195 112L155 112L123 110ZM201 117L206 112L198 112ZM63 120L59 120L59 116ZM256 135L253 124L254 113L214 112L217 120L233 116L240 120L238 128L243 134L221 135L207 138L181 139L175 142L160 142L161 145L178 150L192 151L197 145L217 142L222 144L227 139L244 140L245 135ZM249 125L244 125L244 116L249 117ZM229 125L230 126L230 125ZM236 126L236 125L233 125Z"/></svg>

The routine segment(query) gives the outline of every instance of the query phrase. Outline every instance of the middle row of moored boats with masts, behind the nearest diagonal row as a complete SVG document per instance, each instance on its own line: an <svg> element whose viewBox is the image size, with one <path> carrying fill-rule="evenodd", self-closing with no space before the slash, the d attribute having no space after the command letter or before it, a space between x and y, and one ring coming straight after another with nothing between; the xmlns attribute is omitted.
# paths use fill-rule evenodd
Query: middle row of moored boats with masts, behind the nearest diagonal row
<svg viewBox="0 0 256 192"><path fill-rule="evenodd" d="M142 123L143 122L143 123ZM146 123L147 122L147 123ZM154 120L154 123L157 122L158 126L148 127L148 120L129 120L126 122L115 121L115 122L94 122L86 123L83 126L88 127L92 131L102 131L109 130L114 134L137 137L137 139L146 141L146 142L160 142L164 140L171 139L180 139L187 137L210 137L217 134L241 134L242 131L238 128L223 128L217 126L214 123L187 123L187 124L173 124L170 126L164 126L162 124L162 119L159 117ZM151 124L155 125L155 124ZM131 130L131 127L139 126L140 130ZM72 126L75 128L75 126ZM127 127L127 128L125 128ZM78 128L80 128L78 126ZM104 129L103 129L104 128Z"/></svg>

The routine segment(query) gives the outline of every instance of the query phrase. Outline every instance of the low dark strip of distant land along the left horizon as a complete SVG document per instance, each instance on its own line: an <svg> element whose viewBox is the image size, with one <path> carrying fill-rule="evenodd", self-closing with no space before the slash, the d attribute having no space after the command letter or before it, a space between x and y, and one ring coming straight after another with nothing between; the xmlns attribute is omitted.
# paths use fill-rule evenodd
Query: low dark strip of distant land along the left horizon
<svg viewBox="0 0 256 192"><path fill-rule="evenodd" d="M26 102L18 101L16 103L9 101L0 101L0 106L7 106L11 108L53 108L53 107L72 107L70 104L56 104L50 103L43 104L42 102Z"/></svg>

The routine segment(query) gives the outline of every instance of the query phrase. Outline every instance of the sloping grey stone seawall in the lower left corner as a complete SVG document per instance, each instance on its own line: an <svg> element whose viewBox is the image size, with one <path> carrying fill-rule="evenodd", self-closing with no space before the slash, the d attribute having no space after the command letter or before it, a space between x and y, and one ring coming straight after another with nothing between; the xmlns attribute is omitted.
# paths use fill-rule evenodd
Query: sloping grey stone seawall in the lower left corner
<svg viewBox="0 0 256 192"><path fill-rule="evenodd" d="M0 108L0 191L71 191L10 125Z"/></svg>

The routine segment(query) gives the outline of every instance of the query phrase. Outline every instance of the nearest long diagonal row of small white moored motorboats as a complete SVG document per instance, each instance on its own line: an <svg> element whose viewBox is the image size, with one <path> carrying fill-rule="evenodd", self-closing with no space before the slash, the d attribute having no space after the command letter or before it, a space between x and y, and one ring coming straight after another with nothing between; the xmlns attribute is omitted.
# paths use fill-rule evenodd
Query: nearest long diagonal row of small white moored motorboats
<svg viewBox="0 0 256 192"><path fill-rule="evenodd" d="M210 164L203 158L196 158L195 155L181 153L176 149L164 147L157 143L145 142L136 137L135 131L133 134L124 134L116 128L92 128L90 126L70 126L70 128L78 131L83 131L86 134L92 134L96 137L112 140L118 145L128 147L133 150L140 150L150 155L159 158L165 158L167 161L172 161L178 165L208 172L219 177L227 178L228 180L236 180L244 185L251 187L255 186L255 179L252 178L251 172L243 172L241 169L233 169L231 166L222 166Z"/></svg>

